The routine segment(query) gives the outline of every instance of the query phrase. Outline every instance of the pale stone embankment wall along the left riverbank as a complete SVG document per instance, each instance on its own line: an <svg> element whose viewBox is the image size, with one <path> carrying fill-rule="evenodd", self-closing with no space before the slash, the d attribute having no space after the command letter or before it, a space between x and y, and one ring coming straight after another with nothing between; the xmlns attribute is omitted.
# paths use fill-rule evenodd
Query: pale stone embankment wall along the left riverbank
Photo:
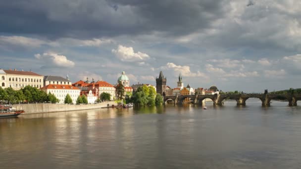
<svg viewBox="0 0 301 169"><path fill-rule="evenodd" d="M102 102L98 104L86 104L86 105L68 105L68 104L50 104L50 103L36 103L36 104L14 104L17 110L24 110L24 114L33 113L50 113L50 112L67 112L76 110L89 110L89 109L100 109L106 107L107 104L117 105L114 101Z"/></svg>

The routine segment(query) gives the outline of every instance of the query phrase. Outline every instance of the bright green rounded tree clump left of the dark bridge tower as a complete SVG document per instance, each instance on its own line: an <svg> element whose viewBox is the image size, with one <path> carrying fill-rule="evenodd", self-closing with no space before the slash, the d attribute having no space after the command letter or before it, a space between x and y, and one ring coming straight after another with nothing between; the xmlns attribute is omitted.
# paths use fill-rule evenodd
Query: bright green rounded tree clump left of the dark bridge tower
<svg viewBox="0 0 301 169"><path fill-rule="evenodd" d="M160 105L162 104L162 96L156 94L153 87L148 87L144 84L142 87L138 87L131 97L126 97L126 103L130 102L138 104L139 106Z"/></svg>

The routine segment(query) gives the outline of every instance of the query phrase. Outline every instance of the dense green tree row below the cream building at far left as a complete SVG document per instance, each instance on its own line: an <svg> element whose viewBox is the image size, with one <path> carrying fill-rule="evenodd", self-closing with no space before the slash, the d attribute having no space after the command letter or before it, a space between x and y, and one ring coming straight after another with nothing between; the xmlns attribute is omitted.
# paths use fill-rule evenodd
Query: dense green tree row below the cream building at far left
<svg viewBox="0 0 301 169"><path fill-rule="evenodd" d="M11 87L7 87L4 89L0 87L0 100L7 101L12 104L19 102L58 102L58 99L53 94L47 94L46 92L39 90L37 87L32 87L30 85L27 85L20 90L14 90Z"/></svg>

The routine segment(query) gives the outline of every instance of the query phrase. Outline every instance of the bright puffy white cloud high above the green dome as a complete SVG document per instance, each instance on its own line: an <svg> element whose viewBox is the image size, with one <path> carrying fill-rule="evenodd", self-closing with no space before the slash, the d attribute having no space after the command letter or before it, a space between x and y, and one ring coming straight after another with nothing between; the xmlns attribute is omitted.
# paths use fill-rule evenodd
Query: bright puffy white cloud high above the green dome
<svg viewBox="0 0 301 169"><path fill-rule="evenodd" d="M140 51L134 52L133 47L126 47L122 45L118 45L118 48L112 49L112 53L114 53L120 60L125 62L136 62L143 61L149 59L150 56L146 53L142 53Z"/></svg>

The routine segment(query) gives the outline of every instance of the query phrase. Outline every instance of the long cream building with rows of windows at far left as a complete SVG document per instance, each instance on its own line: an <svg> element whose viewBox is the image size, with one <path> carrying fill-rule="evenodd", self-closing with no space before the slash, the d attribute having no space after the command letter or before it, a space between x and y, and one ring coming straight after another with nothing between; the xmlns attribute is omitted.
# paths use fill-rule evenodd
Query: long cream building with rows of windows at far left
<svg viewBox="0 0 301 169"><path fill-rule="evenodd" d="M11 87L14 90L19 90L27 85L37 88L44 86L44 76L31 71L0 70L0 76L2 88Z"/></svg>

